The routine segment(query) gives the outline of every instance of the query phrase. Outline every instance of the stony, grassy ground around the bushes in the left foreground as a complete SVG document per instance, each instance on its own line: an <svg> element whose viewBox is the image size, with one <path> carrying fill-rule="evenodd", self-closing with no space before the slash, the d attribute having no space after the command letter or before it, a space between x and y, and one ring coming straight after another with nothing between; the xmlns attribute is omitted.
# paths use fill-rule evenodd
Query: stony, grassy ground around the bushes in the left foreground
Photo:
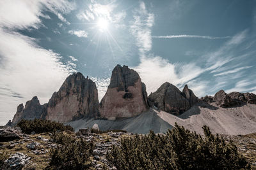
<svg viewBox="0 0 256 170"><path fill-rule="evenodd" d="M1 138L0 129L0 138ZM17 132L15 130L15 132ZM95 149L93 150L92 169L115 169L109 166L106 160L108 150L112 145L120 145L121 138L131 137L134 134L125 132L108 132L102 134L81 134L68 132L74 138L84 138L86 141L93 141ZM3 133L2 133L3 134ZM56 143L51 139L51 133L41 134L21 134L17 132L20 138L12 141L0 142L0 155L8 153L4 160L4 165L0 169L45 169L50 160L50 150L56 147ZM15 134L15 136L17 135ZM6 132L5 134L6 135ZM2 138L3 139L3 138Z"/></svg>

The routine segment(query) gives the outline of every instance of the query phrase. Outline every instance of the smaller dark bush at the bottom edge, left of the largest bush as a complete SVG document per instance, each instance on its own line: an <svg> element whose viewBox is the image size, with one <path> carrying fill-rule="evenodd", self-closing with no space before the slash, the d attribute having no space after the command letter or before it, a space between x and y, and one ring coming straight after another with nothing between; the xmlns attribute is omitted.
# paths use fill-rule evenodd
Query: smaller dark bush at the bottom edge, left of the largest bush
<svg viewBox="0 0 256 170"><path fill-rule="evenodd" d="M92 165L94 145L84 139L72 138L72 136L54 133L52 139L58 143L56 148L51 149L51 161L47 169L88 169Z"/></svg>

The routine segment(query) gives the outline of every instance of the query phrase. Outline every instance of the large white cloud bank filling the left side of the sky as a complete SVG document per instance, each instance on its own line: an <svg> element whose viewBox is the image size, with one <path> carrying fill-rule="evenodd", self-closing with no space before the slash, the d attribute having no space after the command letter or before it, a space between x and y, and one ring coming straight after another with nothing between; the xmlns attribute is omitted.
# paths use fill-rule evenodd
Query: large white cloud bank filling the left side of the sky
<svg viewBox="0 0 256 170"><path fill-rule="evenodd" d="M65 0L0 1L0 124L12 118L18 104L38 96L46 103L52 92L74 69L65 66L61 56L46 50L16 29L38 28L43 11L68 13L74 8Z"/></svg>

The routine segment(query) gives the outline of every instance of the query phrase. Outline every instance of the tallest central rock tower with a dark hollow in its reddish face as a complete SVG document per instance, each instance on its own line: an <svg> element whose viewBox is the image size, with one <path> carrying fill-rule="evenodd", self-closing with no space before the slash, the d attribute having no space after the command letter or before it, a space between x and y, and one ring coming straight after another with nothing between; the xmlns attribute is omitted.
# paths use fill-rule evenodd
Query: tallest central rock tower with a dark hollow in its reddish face
<svg viewBox="0 0 256 170"><path fill-rule="evenodd" d="M134 117L147 111L146 87L139 74L128 66L117 65L99 110L101 117L109 119Z"/></svg>

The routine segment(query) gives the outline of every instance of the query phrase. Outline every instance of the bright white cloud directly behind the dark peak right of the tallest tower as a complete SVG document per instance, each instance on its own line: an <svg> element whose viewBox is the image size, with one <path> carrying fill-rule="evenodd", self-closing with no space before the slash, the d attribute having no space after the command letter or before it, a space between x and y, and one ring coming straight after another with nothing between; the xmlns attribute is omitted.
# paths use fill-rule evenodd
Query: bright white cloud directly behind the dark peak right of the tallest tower
<svg viewBox="0 0 256 170"><path fill-rule="evenodd" d="M195 87L196 82L189 81L203 72L200 67L195 66L195 63L180 66L180 64L172 64L161 57L141 59L141 63L134 67L134 70L138 71L141 80L146 84L148 94L155 92L166 81L177 86L188 83ZM183 87L180 86L180 88ZM204 88L198 88L196 94L202 94L199 89Z"/></svg>

